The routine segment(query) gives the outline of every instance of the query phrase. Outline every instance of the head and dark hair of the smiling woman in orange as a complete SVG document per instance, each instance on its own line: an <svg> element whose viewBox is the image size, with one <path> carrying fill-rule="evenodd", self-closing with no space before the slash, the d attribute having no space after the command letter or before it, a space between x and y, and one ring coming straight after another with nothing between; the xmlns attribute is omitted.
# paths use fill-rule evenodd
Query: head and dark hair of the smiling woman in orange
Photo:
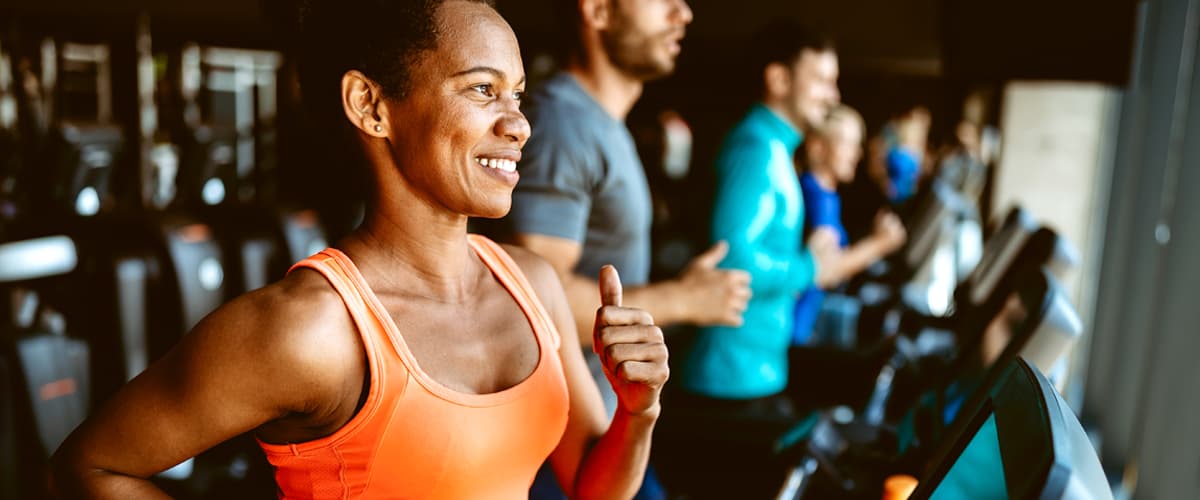
<svg viewBox="0 0 1200 500"><path fill-rule="evenodd" d="M336 128L349 158L395 155L398 181L445 197L455 194L445 187L457 186L458 197L432 201L467 216L503 216L529 137L512 30L481 1L449 7L461 11L454 23L434 18L430 5L439 2L374 4L366 16L320 1L302 12L306 106L318 124ZM388 144L396 147L380 149ZM394 181L371 174L374 185Z"/></svg>

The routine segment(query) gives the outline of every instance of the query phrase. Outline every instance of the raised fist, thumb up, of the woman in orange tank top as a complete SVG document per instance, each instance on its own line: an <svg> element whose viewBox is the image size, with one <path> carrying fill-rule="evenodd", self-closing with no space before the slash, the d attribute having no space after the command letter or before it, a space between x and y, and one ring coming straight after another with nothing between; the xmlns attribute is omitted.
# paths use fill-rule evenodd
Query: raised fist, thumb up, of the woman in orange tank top
<svg viewBox="0 0 1200 500"><path fill-rule="evenodd" d="M620 409L630 415L658 416L659 393L670 376L662 330L650 314L622 307L620 277L613 266L600 270L600 308L592 332Z"/></svg>

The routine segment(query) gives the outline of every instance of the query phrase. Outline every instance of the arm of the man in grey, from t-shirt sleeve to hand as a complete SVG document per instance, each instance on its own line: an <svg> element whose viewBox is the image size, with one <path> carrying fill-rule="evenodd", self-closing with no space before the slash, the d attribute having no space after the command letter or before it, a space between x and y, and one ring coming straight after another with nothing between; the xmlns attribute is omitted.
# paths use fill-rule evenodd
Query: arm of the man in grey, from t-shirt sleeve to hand
<svg viewBox="0 0 1200 500"><path fill-rule="evenodd" d="M511 242L547 260L558 273L570 303L580 342L592 345L592 321L600 307L596 277L580 276L575 267L583 253L593 193L606 169L600 145L604 138L587 132L586 125L559 116L564 109L542 109L533 119L534 133L522 150L521 182L512 192L508 221ZM556 116L558 118L556 120ZM718 270L724 249L706 252L674 279L630 288L626 300L650 312L660 325L742 323L750 290L749 276ZM715 258L714 258L715 257Z"/></svg>

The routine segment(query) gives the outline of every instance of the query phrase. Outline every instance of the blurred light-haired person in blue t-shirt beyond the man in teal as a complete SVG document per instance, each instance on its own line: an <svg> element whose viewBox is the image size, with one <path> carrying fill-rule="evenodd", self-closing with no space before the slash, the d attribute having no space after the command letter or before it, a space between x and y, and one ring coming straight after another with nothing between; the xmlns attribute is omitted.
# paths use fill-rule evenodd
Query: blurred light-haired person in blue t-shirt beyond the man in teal
<svg viewBox="0 0 1200 500"><path fill-rule="evenodd" d="M829 118L809 132L800 158L800 192L804 197L805 233L828 228L838 235L838 246L844 249L826 272L829 281L841 283L862 272L871 264L895 252L904 245L906 233L895 213L884 209L875 217L875 229L853 246L846 236L841 221L841 197L838 185L854 180L854 170L863 157L863 118L853 108L839 104ZM826 293L820 287L810 287L796 302L796 324L792 343L810 343Z"/></svg>

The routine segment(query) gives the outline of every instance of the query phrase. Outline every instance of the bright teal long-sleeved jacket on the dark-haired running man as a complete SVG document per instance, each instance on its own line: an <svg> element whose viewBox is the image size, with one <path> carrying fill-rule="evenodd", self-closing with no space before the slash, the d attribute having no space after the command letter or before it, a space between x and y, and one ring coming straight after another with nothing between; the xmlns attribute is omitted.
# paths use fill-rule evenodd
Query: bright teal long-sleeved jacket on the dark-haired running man
<svg viewBox="0 0 1200 500"><path fill-rule="evenodd" d="M816 275L812 255L800 245L804 199L792 163L800 140L791 124L760 103L721 145L713 240L730 243L720 266L748 271L754 296L742 326L700 329L684 361L689 392L751 399L787 386L792 309Z"/></svg>

